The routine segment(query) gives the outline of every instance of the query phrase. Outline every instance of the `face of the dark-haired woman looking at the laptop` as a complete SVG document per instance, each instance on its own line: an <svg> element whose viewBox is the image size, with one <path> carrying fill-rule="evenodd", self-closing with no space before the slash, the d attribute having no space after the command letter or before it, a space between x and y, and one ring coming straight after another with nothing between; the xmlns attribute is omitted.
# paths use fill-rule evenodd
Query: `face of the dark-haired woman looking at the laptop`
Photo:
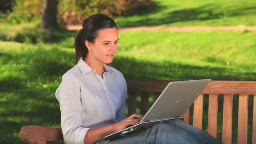
<svg viewBox="0 0 256 144"><path fill-rule="evenodd" d="M101 29L94 43L90 43L88 50L94 59L104 64L109 64L113 61L117 51L118 40L117 28Z"/></svg>

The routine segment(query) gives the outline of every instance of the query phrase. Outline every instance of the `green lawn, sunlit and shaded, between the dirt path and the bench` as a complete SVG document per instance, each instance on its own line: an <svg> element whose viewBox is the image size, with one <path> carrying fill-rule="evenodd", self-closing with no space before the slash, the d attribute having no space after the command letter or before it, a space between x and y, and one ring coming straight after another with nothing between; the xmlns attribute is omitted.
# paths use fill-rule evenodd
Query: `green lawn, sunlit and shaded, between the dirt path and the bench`
<svg viewBox="0 0 256 144"><path fill-rule="evenodd" d="M0 41L0 143L21 143L23 125L60 126L54 93L75 64L75 32L70 35L36 45ZM119 37L110 65L127 79L256 80L256 31L120 32ZM221 115L221 103L219 109Z"/></svg>

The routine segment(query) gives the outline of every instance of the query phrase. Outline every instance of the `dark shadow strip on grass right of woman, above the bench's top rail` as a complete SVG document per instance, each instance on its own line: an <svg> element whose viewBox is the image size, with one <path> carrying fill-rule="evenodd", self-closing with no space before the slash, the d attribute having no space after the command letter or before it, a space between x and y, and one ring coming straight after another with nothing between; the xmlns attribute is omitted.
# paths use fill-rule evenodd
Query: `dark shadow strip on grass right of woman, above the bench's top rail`
<svg viewBox="0 0 256 144"><path fill-rule="evenodd" d="M126 79L190 80L211 78L212 80L256 80L255 72L239 72L224 67L198 67L162 61L136 61L128 58L115 58L112 67L119 69Z"/></svg>

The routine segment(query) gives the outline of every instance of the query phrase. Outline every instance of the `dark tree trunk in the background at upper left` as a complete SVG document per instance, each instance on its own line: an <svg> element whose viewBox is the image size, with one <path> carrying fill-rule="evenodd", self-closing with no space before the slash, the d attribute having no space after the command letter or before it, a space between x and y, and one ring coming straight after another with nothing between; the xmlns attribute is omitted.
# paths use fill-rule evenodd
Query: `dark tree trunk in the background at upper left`
<svg viewBox="0 0 256 144"><path fill-rule="evenodd" d="M58 27L57 24L57 6L58 0L45 0L43 3L43 17L41 29L50 29Z"/></svg>

